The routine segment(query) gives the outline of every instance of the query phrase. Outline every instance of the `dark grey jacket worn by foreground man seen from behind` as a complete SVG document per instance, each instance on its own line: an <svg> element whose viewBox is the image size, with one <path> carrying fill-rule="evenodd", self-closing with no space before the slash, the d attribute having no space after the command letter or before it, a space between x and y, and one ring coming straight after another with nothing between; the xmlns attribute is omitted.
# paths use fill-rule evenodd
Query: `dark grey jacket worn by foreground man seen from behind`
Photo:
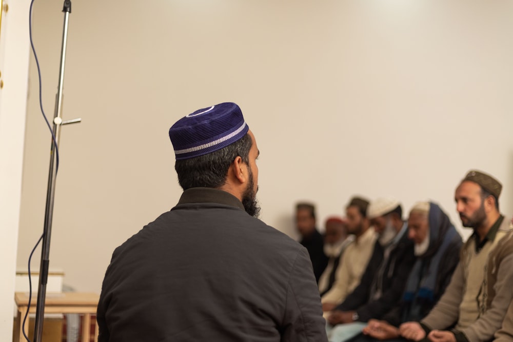
<svg viewBox="0 0 513 342"><path fill-rule="evenodd" d="M204 188L114 251L97 320L100 342L327 340L306 249Z"/></svg>

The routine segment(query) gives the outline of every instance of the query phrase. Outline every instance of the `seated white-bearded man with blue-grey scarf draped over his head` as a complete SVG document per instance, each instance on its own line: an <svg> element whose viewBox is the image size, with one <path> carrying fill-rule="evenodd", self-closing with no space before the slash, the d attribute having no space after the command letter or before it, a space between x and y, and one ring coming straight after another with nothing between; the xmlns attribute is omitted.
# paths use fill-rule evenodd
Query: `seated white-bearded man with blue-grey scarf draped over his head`
<svg viewBox="0 0 513 342"><path fill-rule="evenodd" d="M410 210L408 237L415 243L417 261L401 300L381 320L371 319L351 342L403 339L401 323L426 316L449 284L463 245L449 217L437 204L419 202Z"/></svg>

